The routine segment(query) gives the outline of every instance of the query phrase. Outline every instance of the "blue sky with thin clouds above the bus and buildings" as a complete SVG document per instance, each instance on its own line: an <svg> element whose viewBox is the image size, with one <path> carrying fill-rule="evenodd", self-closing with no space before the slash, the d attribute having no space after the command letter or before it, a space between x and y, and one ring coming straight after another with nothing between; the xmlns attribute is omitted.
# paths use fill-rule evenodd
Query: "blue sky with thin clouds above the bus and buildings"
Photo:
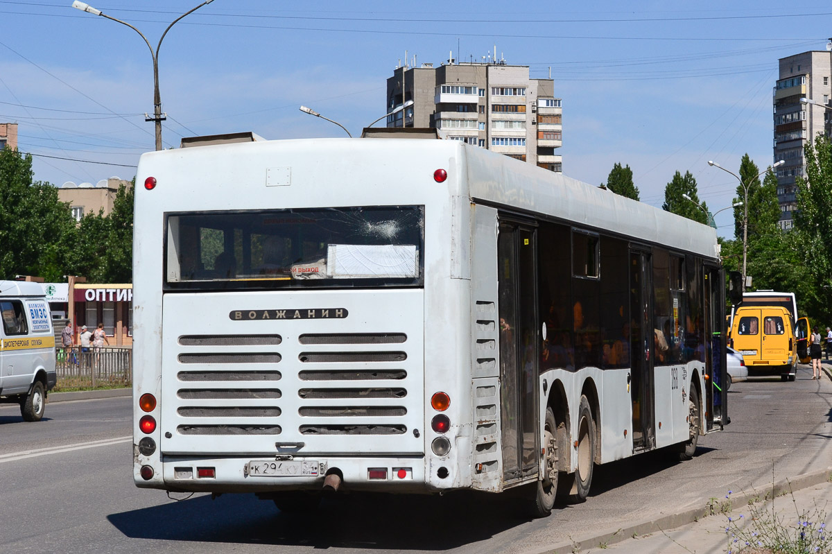
<svg viewBox="0 0 832 554"><path fill-rule="evenodd" d="M95 0L153 47L199 2ZM181 136L255 131L268 139L354 135L385 111L385 80L416 62L478 60L497 48L555 80L563 170L598 185L629 165L661 206L691 171L711 210L730 205L748 152L772 163L777 59L825 50L827 2L279 2L215 0L176 23L159 59L165 146ZM35 178L130 179L154 148L151 54L130 28L72 0L0 0L0 121L19 124ZM630 10L622 11L622 6ZM551 68L551 69L550 69ZM53 156L53 157L45 157ZM70 161L59 158L71 158ZM89 162L105 162L89 163ZM730 210L717 215L730 235Z"/></svg>

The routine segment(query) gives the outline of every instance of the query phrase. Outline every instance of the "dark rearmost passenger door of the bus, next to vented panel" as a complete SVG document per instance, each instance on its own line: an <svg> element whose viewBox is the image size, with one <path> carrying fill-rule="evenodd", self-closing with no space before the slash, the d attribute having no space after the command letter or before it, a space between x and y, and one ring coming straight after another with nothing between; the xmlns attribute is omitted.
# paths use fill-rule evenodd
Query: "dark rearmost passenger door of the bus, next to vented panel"
<svg viewBox="0 0 832 554"><path fill-rule="evenodd" d="M499 226L500 417L503 482L537 475L536 233L531 225Z"/></svg>

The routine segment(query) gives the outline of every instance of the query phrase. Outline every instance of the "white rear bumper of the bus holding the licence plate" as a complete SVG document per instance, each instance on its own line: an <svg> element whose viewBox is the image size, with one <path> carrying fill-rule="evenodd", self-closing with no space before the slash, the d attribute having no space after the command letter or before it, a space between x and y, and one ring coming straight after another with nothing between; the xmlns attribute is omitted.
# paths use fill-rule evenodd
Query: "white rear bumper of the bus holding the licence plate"
<svg viewBox="0 0 832 554"><path fill-rule="evenodd" d="M437 492L425 482L422 455L377 458L312 455L291 460L275 460L274 456L163 455L161 466L161 482L140 482L140 477L136 479L136 485L183 492L317 491L324 487L324 477L334 472L342 479L339 492ZM308 474L296 474L298 472Z"/></svg>

